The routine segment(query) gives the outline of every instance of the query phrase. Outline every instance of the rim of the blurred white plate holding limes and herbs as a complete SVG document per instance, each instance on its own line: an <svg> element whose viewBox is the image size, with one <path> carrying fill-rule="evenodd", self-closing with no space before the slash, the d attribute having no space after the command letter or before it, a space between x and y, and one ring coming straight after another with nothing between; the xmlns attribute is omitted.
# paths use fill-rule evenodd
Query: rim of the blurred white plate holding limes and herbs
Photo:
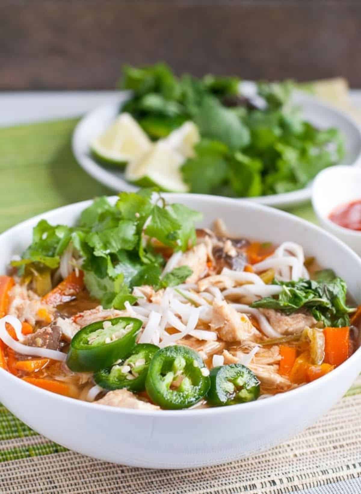
<svg viewBox="0 0 361 494"><path fill-rule="evenodd" d="M90 122L94 120L94 118L97 115L100 115L99 117L100 119L102 118L102 115L106 113L116 115L118 112L119 105L124 101L126 101L128 96L129 96L128 91L119 91L118 101L115 102L112 101L111 103L101 105L95 108L94 110L88 112L80 120L80 122L76 125L74 129L72 136L72 151L78 164L89 175L91 175L97 181L101 182L103 185L106 185L110 189L116 191L134 192L139 188L130 184L122 177L119 177L117 174L115 174L112 171L111 168L106 168L100 165L92 158L92 156L89 153L89 138L87 137ZM301 93L300 91L296 91L294 99L295 99L295 103L301 106L302 103L306 103L308 105L312 104L315 107L315 109L320 109L320 111L327 110L328 112L333 113L334 116L337 117L337 119L340 122L343 122L344 124L347 124L348 126L352 127L353 132L355 133L355 135L357 134L358 137L358 143L357 143L358 153L355 156L355 160L353 161L353 163L348 163L348 164L358 165L359 163L361 163L361 129L359 125L351 117L349 117L342 111L338 110L337 108L327 105L321 102L320 100L318 100L317 98L315 98L314 96L307 93ZM347 139L348 136L346 135L345 138ZM84 150L81 144L79 145L79 143L82 143L85 140L87 142L86 151ZM312 188L312 184L309 184L307 187L293 192L274 194L271 196L248 198L248 200L266 206L280 206L280 207L291 206L309 200L311 198L311 188Z"/></svg>

